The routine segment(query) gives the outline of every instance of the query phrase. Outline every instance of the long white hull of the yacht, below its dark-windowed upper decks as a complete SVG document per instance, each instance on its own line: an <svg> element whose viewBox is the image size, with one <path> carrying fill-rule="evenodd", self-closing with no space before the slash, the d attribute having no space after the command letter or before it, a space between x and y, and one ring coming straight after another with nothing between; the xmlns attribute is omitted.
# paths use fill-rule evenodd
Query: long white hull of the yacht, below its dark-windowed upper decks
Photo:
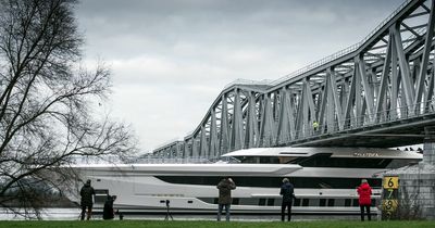
<svg viewBox="0 0 435 228"><path fill-rule="evenodd" d="M371 178L382 169L368 168L302 168L299 165L278 164L148 164L148 165L83 165L74 167L83 180L91 179L97 190L95 207L102 206L105 194L117 195L114 206L125 213L166 213L166 201L171 213L215 213L217 189L215 185L173 183L162 180L184 178L216 178L231 176L240 178L303 178L303 177L345 177ZM232 213L278 214L281 213L281 182L276 187L237 186L232 192L237 202L232 204ZM356 187L349 189L298 188L295 186L298 205L295 214L356 214L359 213ZM76 186L78 192L80 183ZM380 192L375 190L374 198ZM77 194L73 201L79 202ZM322 203L323 201L323 203ZM350 203L349 203L350 201ZM333 203L331 203L333 202ZM376 208L372 208L376 213Z"/></svg>

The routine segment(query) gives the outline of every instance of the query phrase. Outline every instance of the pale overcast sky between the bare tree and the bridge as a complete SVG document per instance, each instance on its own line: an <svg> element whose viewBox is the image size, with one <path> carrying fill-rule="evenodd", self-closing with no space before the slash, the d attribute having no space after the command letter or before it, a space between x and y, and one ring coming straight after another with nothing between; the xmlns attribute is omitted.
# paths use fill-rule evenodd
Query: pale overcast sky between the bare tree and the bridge
<svg viewBox="0 0 435 228"><path fill-rule="evenodd" d="M362 40L403 0L82 0L84 61L142 151L194 130L225 85L278 79Z"/></svg>

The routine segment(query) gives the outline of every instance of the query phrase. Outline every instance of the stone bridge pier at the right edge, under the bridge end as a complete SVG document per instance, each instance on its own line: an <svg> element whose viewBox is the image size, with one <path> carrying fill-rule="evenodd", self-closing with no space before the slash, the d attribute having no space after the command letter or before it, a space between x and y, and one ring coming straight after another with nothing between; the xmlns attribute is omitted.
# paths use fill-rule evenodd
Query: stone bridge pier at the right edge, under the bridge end
<svg viewBox="0 0 435 228"><path fill-rule="evenodd" d="M423 161L388 174L399 177L399 217L435 219L435 126L425 127Z"/></svg>

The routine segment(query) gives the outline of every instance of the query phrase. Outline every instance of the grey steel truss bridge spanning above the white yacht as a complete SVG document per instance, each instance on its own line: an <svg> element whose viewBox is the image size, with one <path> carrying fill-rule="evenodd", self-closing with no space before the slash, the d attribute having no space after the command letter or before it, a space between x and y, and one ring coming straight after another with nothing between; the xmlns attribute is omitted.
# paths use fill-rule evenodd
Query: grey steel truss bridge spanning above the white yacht
<svg viewBox="0 0 435 228"><path fill-rule="evenodd" d="M435 125L434 7L408 0L357 45L275 81L229 84L190 135L153 154L422 143Z"/></svg>

